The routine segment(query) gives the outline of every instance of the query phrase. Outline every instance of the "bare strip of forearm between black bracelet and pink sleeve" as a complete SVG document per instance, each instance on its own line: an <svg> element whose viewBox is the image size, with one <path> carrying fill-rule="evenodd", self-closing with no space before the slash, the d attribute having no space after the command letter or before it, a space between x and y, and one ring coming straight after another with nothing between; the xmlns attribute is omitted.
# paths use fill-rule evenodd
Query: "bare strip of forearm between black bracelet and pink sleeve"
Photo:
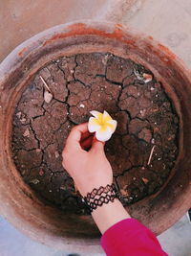
<svg viewBox="0 0 191 256"><path fill-rule="evenodd" d="M97 207L93 211L92 217L101 234L118 221L131 218L117 198L115 198L114 202L110 201L101 207Z"/></svg>

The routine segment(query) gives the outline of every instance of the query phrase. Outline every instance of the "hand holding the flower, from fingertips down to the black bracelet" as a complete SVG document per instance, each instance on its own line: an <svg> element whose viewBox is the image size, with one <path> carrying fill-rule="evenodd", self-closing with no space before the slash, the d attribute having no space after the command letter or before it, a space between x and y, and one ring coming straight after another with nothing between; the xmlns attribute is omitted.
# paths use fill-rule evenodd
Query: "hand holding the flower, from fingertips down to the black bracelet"
<svg viewBox="0 0 191 256"><path fill-rule="evenodd" d="M63 167L73 177L82 197L94 188L112 184L113 172L105 156L104 143L88 131L88 123L72 129L62 157Z"/></svg>

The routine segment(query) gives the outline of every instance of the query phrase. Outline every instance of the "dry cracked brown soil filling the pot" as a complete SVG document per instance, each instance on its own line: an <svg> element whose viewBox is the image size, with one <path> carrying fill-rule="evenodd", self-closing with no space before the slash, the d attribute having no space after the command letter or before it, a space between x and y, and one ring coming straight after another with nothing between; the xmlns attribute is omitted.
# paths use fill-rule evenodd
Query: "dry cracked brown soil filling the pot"
<svg viewBox="0 0 191 256"><path fill-rule="evenodd" d="M40 77L53 93L49 104ZM11 145L24 181L47 203L87 213L62 167L61 152L71 128L87 122L91 110L106 110L117 120L105 151L123 204L159 191L178 155L175 108L149 70L99 53L53 60L23 92L13 116Z"/></svg>

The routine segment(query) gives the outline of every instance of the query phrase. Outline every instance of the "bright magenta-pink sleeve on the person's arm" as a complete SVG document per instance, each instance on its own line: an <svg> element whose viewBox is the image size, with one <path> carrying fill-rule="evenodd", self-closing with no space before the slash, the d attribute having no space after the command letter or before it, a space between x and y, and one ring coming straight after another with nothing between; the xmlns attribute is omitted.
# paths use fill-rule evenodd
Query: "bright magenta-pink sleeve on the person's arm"
<svg viewBox="0 0 191 256"><path fill-rule="evenodd" d="M101 245L108 256L166 256L156 236L135 219L117 222L105 231Z"/></svg>

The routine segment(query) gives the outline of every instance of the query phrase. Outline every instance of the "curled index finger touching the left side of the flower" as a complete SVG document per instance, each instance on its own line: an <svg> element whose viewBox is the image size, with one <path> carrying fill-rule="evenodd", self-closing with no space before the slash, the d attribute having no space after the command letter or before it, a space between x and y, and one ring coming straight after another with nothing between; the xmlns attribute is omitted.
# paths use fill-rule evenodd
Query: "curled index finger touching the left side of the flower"
<svg viewBox="0 0 191 256"><path fill-rule="evenodd" d="M80 146L80 139L83 133L88 131L88 123L80 124L76 127L74 127L67 140L66 140L66 147L73 147L75 149L81 149Z"/></svg>

